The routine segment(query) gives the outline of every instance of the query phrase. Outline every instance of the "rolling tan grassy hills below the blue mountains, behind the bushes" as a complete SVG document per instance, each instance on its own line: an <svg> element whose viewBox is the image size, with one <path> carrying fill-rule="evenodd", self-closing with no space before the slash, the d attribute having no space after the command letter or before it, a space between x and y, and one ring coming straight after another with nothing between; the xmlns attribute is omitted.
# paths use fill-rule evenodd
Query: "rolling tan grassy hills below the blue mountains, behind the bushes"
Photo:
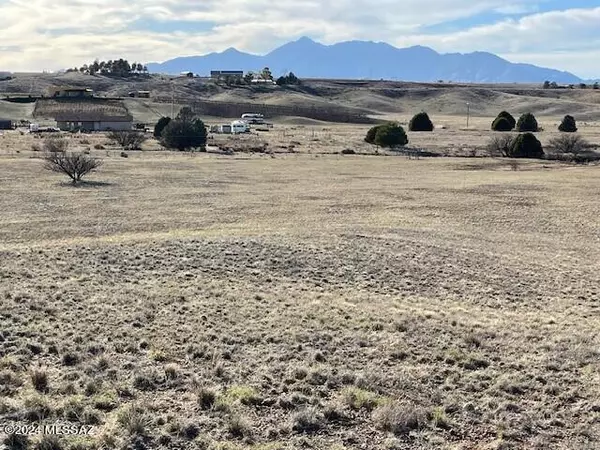
<svg viewBox="0 0 600 450"><path fill-rule="evenodd" d="M473 116L492 117L500 110L514 115L532 112L559 119L575 114L579 120L600 118L600 90L544 90L535 85L468 85L404 83L367 80L304 80L301 86L228 87L203 78L132 77L114 79L83 74L17 74L0 81L0 98L6 95L44 95L53 86L90 87L96 95L127 97L130 91L148 90L150 99L128 99L127 108L136 121L153 122L176 109L199 101L249 103L297 108L327 108L336 111L363 111L372 116L430 114L462 116L467 103ZM0 116L28 118L31 108L0 101ZM298 114L290 114L302 116Z"/></svg>

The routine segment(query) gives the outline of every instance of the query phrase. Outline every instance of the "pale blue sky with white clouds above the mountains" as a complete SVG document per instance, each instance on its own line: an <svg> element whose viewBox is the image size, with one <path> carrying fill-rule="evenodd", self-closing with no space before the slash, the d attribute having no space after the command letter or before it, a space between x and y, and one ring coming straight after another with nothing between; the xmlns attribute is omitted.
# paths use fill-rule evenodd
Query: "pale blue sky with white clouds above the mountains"
<svg viewBox="0 0 600 450"><path fill-rule="evenodd" d="M162 62L308 36L488 51L600 78L600 0L0 0L0 71Z"/></svg>

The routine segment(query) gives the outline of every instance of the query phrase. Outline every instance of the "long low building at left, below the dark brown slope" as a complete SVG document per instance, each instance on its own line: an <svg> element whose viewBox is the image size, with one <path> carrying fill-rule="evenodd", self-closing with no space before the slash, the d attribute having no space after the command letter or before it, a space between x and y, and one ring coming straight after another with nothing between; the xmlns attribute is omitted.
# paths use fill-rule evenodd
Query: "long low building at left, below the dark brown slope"
<svg viewBox="0 0 600 450"><path fill-rule="evenodd" d="M103 112L62 112L55 115L56 126L63 131L128 131L133 129L130 115Z"/></svg>

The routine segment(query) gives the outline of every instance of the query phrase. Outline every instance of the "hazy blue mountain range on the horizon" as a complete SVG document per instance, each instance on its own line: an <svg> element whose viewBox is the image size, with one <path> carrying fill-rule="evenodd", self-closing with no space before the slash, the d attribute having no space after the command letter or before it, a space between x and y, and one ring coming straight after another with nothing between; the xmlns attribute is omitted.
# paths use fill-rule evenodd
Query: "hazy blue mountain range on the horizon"
<svg viewBox="0 0 600 450"><path fill-rule="evenodd" d="M300 78L386 79L470 83L579 83L576 75L531 64L511 63L493 53L440 54L429 47L396 48L383 42L347 41L324 45L303 37L266 55L229 48L221 53L149 63L154 73L184 71L207 76L211 70L260 71L275 77L289 71Z"/></svg>

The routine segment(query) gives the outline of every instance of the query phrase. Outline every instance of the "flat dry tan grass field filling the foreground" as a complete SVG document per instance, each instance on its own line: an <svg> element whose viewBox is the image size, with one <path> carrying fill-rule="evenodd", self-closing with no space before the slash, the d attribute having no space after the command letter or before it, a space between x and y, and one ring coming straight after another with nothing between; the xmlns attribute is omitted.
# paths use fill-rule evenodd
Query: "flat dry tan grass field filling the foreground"
<svg viewBox="0 0 600 450"><path fill-rule="evenodd" d="M598 167L325 154L363 128L73 137L78 187L0 137L1 422L94 427L8 448L598 448Z"/></svg>

